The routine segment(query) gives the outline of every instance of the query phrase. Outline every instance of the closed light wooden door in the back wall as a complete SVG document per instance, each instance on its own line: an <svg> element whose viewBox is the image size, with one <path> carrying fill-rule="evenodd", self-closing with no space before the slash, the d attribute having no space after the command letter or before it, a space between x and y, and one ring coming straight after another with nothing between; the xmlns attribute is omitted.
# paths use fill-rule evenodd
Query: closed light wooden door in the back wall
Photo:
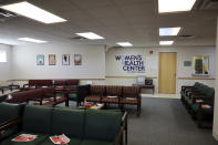
<svg viewBox="0 0 218 145"><path fill-rule="evenodd" d="M159 93L176 93L177 53L159 53Z"/></svg>

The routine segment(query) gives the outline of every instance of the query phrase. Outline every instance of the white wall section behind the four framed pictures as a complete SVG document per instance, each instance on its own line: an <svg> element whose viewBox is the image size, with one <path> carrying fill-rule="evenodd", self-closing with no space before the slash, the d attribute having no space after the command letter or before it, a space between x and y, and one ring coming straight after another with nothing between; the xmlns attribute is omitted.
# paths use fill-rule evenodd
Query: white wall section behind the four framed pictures
<svg viewBox="0 0 218 145"><path fill-rule="evenodd" d="M44 65L37 65L38 54L44 54ZM49 65L49 54L56 55L56 65ZM62 65L62 54L70 54L70 65ZM82 65L74 65L74 54L82 54ZM13 46L12 58L14 80L105 77L105 50L102 45L20 45Z"/></svg>

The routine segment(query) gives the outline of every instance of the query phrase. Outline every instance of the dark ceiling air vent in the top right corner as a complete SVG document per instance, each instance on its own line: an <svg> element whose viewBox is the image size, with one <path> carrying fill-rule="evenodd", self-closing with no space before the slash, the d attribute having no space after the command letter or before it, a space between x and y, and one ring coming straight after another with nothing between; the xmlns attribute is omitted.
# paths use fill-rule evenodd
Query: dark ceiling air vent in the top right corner
<svg viewBox="0 0 218 145"><path fill-rule="evenodd" d="M197 0L194 9L218 9L218 0Z"/></svg>

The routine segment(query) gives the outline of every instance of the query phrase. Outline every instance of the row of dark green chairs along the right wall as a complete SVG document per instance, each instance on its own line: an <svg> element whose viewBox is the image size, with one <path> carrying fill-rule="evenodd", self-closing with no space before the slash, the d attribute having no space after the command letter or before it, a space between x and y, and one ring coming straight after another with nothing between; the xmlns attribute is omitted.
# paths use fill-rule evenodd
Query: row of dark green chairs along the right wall
<svg viewBox="0 0 218 145"><path fill-rule="evenodd" d="M180 94L188 113L197 118L198 127L206 127L203 121L212 121L214 117L215 89L196 82L193 86L181 86Z"/></svg>

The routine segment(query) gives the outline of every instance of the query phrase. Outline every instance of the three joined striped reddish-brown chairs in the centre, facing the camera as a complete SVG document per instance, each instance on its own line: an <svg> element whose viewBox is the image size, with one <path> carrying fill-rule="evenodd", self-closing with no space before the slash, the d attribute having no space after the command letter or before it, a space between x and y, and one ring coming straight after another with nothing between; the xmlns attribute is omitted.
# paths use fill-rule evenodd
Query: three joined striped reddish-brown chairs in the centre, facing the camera
<svg viewBox="0 0 218 145"><path fill-rule="evenodd" d="M121 108L124 105L136 105L137 116L141 115L142 97L139 86L91 85L85 101L104 103L105 105L118 104Z"/></svg>

